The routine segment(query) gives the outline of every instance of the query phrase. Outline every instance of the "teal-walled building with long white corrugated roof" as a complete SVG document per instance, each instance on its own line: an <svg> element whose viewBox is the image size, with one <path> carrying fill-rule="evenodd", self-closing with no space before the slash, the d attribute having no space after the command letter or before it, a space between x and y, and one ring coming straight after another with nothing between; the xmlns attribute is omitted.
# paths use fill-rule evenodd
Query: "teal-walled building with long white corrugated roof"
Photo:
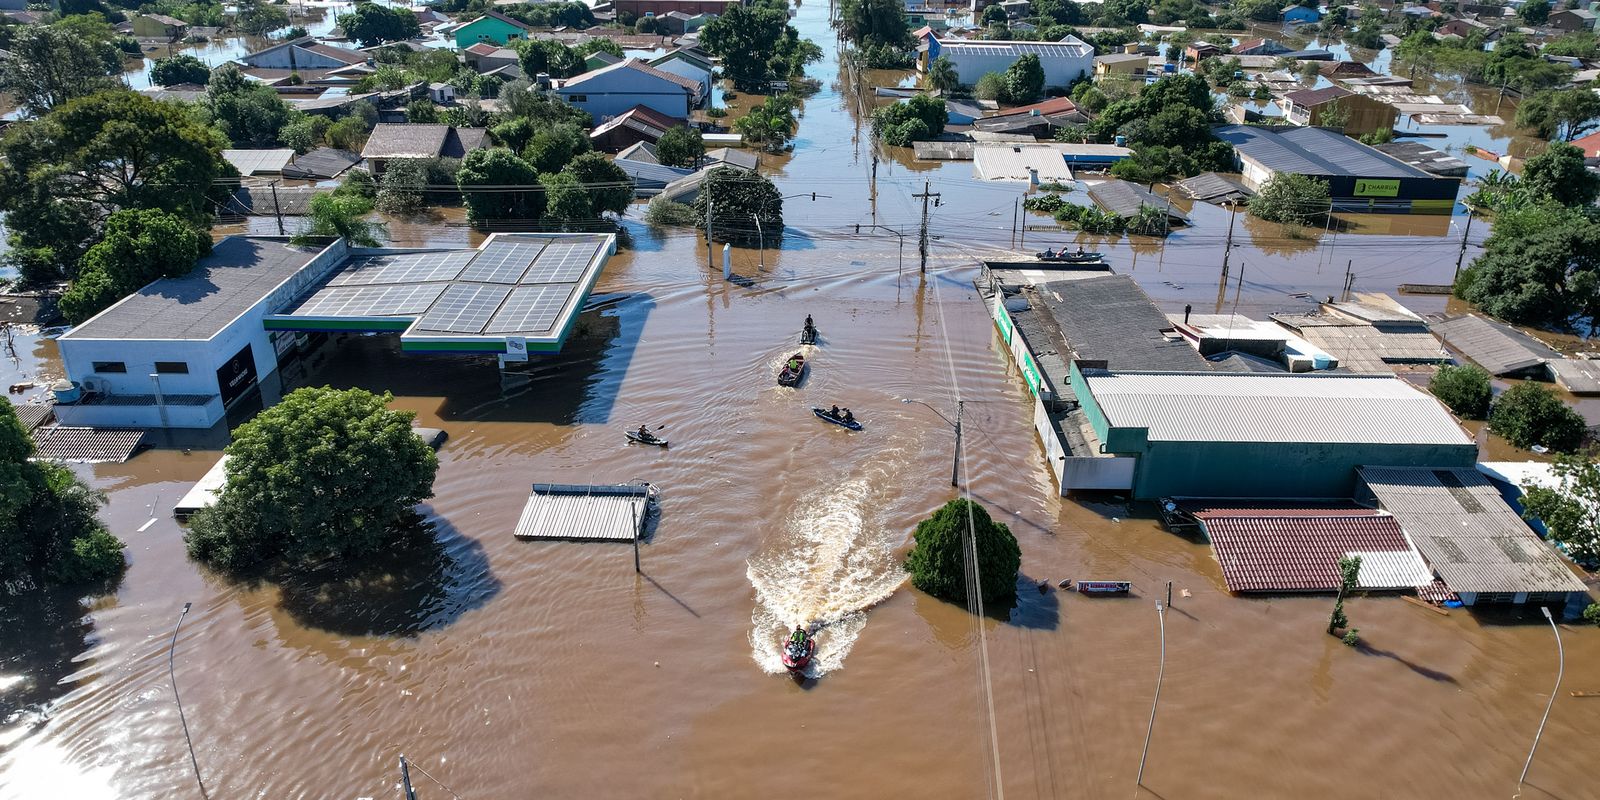
<svg viewBox="0 0 1600 800"><path fill-rule="evenodd" d="M1450 411L1394 376L1070 370L1101 451L1138 459L1138 499L1347 498L1366 464L1477 459Z"/></svg>

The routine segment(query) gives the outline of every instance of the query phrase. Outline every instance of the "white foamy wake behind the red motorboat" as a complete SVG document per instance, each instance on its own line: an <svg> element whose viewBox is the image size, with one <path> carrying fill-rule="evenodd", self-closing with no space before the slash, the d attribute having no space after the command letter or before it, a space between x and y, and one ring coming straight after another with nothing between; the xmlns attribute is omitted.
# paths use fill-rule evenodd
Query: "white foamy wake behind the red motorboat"
<svg viewBox="0 0 1600 800"><path fill-rule="evenodd" d="M874 478L883 485L883 475ZM790 517L778 546L750 558L750 656L763 670L786 672L782 640L811 621L822 629L806 675L842 667L867 624L866 611L906 579L894 557L902 536L872 517L869 485L858 477L805 498L798 504L805 512Z"/></svg>

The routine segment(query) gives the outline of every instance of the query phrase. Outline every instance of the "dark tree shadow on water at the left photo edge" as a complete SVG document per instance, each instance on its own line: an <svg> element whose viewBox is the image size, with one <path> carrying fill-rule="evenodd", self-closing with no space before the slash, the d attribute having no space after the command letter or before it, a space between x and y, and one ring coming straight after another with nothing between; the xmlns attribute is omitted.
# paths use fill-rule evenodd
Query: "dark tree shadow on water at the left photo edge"
<svg viewBox="0 0 1600 800"><path fill-rule="evenodd" d="M88 669L80 656L94 645L94 622L78 595L61 587L0 594L0 728L42 712Z"/></svg>

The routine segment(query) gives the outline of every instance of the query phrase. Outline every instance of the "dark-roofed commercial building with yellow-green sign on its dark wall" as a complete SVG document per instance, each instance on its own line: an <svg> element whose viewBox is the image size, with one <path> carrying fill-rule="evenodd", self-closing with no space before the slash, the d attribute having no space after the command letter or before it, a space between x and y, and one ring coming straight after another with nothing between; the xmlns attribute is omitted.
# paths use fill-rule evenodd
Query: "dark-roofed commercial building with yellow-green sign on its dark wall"
<svg viewBox="0 0 1600 800"><path fill-rule="evenodd" d="M1448 214L1459 178L1426 173L1326 128L1219 125L1216 136L1234 146L1245 186L1253 190L1275 174L1307 174L1328 182L1336 211Z"/></svg>

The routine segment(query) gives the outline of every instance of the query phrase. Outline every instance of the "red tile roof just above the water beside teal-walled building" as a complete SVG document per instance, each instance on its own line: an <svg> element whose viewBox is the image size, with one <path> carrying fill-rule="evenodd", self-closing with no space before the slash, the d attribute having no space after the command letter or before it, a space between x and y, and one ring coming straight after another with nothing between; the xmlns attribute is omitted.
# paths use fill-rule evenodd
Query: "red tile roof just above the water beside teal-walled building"
<svg viewBox="0 0 1600 800"><path fill-rule="evenodd" d="M1293 504L1192 514L1205 523L1234 592L1333 592L1339 587L1339 557L1413 550L1394 517L1365 507Z"/></svg>

